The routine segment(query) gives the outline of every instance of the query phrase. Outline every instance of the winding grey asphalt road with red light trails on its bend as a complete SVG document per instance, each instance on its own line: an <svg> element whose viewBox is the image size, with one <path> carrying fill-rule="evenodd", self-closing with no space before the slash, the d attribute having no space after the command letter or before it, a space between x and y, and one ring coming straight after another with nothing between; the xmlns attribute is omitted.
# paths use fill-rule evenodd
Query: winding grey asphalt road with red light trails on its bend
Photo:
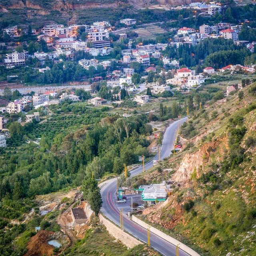
<svg viewBox="0 0 256 256"><path fill-rule="evenodd" d="M181 120L178 120L172 124L166 129L166 132L164 134L164 138L162 141L162 147L160 150L160 159L163 160L164 158L170 156L172 154L173 150L173 144L176 140L176 133L178 131L178 128L181 123L184 123L186 121L186 117L182 118ZM155 157L155 159L158 159L158 155ZM149 170L153 167L153 160L147 162L144 165L145 171ZM138 167L134 170L132 170L131 176L136 176L139 173L142 172L142 167ZM102 194L102 200L103 200L103 206L101 208L102 213L112 220L114 223L120 226L120 211L118 207L116 206L115 201L115 193L116 193L117 183L116 178L108 180L105 182L105 184L101 187L101 194ZM126 215L123 216L123 227L124 230L132 234L133 236L137 237L138 239L142 240L143 242L147 243L147 230L145 228L142 228L140 225L136 224L132 220L128 219ZM150 245L152 248L160 252L164 256L176 256L176 245L171 244L167 242L166 240L160 238L159 236L156 236L153 233L150 233ZM180 250L179 251L180 256L189 256L186 252Z"/></svg>

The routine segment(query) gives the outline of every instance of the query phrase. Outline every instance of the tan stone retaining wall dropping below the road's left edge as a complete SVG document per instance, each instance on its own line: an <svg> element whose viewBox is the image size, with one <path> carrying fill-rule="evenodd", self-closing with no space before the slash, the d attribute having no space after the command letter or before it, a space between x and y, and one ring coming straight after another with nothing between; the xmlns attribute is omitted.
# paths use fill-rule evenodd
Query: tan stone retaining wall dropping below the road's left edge
<svg viewBox="0 0 256 256"><path fill-rule="evenodd" d="M99 214L99 217L100 223L102 223L106 227L108 232L112 236L114 236L114 238L120 240L128 248L133 248L134 246L142 244L142 242L140 242L133 236L130 236L129 234L118 228L116 225L114 225L112 222L104 218L102 214Z"/></svg>

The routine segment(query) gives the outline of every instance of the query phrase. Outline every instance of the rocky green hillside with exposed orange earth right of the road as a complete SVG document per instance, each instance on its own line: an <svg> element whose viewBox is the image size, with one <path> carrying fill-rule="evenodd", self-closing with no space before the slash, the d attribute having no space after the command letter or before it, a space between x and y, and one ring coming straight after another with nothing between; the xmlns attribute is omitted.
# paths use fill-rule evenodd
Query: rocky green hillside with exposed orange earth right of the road
<svg viewBox="0 0 256 256"><path fill-rule="evenodd" d="M142 218L201 255L256 254L256 83L196 111L182 152L136 178L174 181L174 195Z"/></svg>

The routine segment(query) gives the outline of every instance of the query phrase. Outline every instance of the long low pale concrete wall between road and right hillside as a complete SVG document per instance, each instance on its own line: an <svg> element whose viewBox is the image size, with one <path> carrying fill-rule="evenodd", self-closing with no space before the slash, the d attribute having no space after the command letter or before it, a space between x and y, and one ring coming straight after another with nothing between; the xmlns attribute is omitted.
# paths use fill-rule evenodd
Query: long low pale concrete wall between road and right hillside
<svg viewBox="0 0 256 256"><path fill-rule="evenodd" d="M182 244L182 242L176 240L175 238L172 238L171 236L168 236L167 234L158 230L157 228L154 228L151 225L148 225L146 222L140 220L136 216L132 215L132 220L134 222L136 222L137 224L139 224L140 226L142 226L143 228L148 228L148 226L149 226L150 227L150 232L156 234L157 236L160 236L161 238L163 238L164 240L174 244L175 246L178 244L179 248L181 250L183 250L184 252L188 253L189 255L191 255L191 256L200 256L200 254L198 254L197 252L195 252L194 250L192 250L191 248L189 248L185 244Z"/></svg>

